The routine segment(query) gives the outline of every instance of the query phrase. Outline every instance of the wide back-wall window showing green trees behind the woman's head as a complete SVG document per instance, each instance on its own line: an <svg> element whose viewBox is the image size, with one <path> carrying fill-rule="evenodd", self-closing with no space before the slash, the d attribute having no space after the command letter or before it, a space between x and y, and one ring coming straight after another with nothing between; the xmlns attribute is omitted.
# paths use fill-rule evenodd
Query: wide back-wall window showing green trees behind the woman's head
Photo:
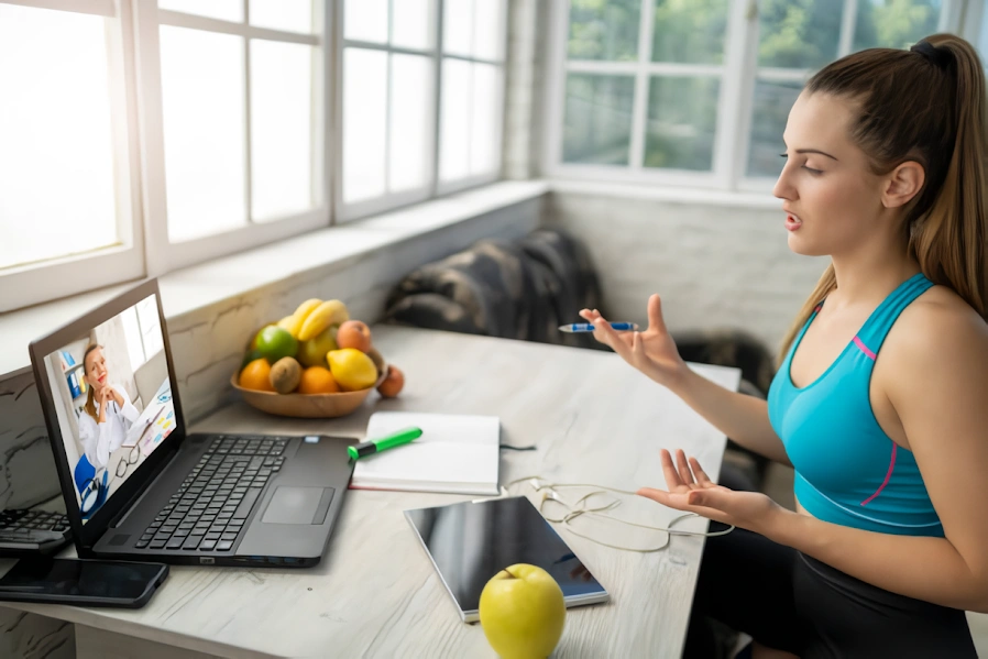
<svg viewBox="0 0 988 659"><path fill-rule="evenodd" d="M769 187L781 171L789 109L822 66L980 17L979 3L964 0L555 7L547 169L726 189Z"/></svg>

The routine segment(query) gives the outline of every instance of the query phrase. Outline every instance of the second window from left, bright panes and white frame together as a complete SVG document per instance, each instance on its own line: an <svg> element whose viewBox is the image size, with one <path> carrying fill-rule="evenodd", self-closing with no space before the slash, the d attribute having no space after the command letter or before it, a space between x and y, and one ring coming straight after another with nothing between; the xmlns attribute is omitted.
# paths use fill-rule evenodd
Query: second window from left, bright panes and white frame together
<svg viewBox="0 0 988 659"><path fill-rule="evenodd" d="M323 3L134 1L150 274L329 224Z"/></svg>

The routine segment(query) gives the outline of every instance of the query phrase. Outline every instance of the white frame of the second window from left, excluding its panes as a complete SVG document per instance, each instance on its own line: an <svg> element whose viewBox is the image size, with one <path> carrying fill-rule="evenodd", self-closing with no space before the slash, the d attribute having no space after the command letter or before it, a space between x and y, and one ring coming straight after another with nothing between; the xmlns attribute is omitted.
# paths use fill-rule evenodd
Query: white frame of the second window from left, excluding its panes
<svg viewBox="0 0 988 659"><path fill-rule="evenodd" d="M243 22L235 23L221 19L186 14L183 12L162 10L157 0L132 0L135 3L136 47L135 57L139 76L138 89L141 108L141 150L142 179L144 193L145 259L146 274L154 277L180 267L202 263L210 259L242 252L266 243L290 238L308 231L329 227L332 220L330 212L331 183L327 161L333 153L332 144L332 105L329 96L333 89L332 41L326 35L332 32L332 12L320 11L322 2L314 2L314 33L300 34L282 30L256 28L250 24L250 0L243 3ZM321 13L322 15L319 15ZM158 31L161 25L220 32L243 37L244 47L244 187L246 226L220 231L202 238L178 243L168 240L167 197L165 180L165 145L161 79L161 44ZM312 122L316 129L314 144L322 144L322 158L316 158L312 168L312 185L318 193L317 207L287 216L277 220L255 222L251 220L251 67L250 47L254 39L268 39L276 42L288 42L321 48L321 56L316 57L312 67ZM321 121L320 121L321 118ZM314 150L315 151L315 150ZM153 249L151 245L155 245Z"/></svg>

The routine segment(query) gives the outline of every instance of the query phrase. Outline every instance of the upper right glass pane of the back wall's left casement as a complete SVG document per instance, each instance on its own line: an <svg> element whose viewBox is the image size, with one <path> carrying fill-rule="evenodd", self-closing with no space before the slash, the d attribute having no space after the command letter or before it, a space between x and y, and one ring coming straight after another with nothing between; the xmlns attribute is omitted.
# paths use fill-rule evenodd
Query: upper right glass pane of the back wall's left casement
<svg viewBox="0 0 988 659"><path fill-rule="evenodd" d="M727 0L657 0L652 62L724 62L727 4Z"/></svg>

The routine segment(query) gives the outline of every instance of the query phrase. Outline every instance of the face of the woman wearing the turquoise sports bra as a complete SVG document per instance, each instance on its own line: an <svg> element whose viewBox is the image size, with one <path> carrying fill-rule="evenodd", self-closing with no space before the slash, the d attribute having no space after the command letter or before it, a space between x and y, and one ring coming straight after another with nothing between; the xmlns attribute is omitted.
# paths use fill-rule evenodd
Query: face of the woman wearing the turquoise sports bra
<svg viewBox="0 0 988 659"><path fill-rule="evenodd" d="M782 199L789 248L810 256L844 254L881 231L882 179L850 141L850 102L800 95L782 140L786 165L772 194Z"/></svg>

